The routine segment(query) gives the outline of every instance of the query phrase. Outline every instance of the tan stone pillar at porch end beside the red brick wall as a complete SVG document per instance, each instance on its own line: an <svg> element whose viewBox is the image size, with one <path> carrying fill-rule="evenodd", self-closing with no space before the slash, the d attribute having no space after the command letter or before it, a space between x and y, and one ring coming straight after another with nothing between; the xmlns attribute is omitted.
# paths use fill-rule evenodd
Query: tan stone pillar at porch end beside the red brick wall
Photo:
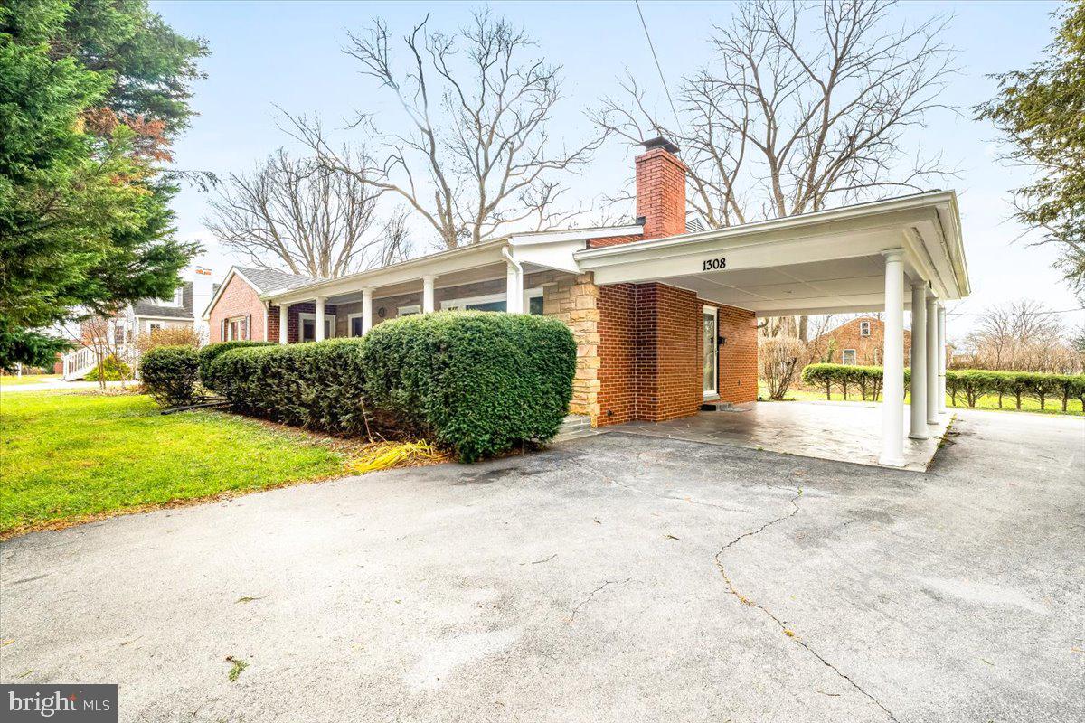
<svg viewBox="0 0 1085 723"><path fill-rule="evenodd" d="M576 339L576 376L570 414L599 418L599 287L591 273L542 287L542 313L564 322Z"/></svg>

